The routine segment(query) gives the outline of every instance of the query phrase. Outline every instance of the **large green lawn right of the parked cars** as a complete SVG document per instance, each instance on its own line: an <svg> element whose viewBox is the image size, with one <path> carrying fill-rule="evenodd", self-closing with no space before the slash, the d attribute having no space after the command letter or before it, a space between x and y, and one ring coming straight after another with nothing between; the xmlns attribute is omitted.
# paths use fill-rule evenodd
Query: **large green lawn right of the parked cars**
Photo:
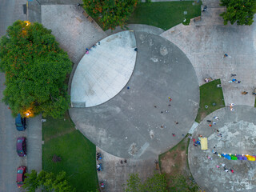
<svg viewBox="0 0 256 192"><path fill-rule="evenodd" d="M65 118L65 121L64 121ZM96 146L85 138L66 113L62 119L47 118L42 124L42 169L57 174L66 171L70 185L77 191L98 189L96 172ZM62 158L53 162L53 155Z"/></svg>

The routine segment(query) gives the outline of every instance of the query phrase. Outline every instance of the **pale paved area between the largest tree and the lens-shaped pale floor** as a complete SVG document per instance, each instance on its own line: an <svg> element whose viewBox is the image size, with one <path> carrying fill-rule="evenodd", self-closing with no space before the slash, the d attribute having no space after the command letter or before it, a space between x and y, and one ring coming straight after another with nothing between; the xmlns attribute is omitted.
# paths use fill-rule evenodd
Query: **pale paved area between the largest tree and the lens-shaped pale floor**
<svg viewBox="0 0 256 192"><path fill-rule="evenodd" d="M78 64L86 53L86 47L106 37L96 22L90 22L76 5L42 5L42 24L65 50L72 62ZM53 19L54 18L54 19Z"/></svg>

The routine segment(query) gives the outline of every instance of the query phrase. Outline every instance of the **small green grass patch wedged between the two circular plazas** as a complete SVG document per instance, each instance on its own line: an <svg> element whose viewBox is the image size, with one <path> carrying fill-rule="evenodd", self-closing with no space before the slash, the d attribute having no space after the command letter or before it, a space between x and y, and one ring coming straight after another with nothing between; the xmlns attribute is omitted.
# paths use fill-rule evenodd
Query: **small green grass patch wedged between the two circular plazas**
<svg viewBox="0 0 256 192"><path fill-rule="evenodd" d="M208 114L225 106L222 88L218 88L218 84L221 84L219 79L200 86L200 106L196 122L201 122ZM213 103L216 105L213 106Z"/></svg>

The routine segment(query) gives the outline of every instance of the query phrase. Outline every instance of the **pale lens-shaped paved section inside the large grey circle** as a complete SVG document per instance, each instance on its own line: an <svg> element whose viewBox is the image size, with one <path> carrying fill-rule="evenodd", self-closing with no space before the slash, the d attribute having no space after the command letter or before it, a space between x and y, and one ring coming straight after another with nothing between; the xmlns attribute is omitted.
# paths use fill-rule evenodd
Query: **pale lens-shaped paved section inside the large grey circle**
<svg viewBox="0 0 256 192"><path fill-rule="evenodd" d="M133 31L102 39L78 64L71 84L72 107L98 106L122 90L134 71L137 52Z"/></svg>

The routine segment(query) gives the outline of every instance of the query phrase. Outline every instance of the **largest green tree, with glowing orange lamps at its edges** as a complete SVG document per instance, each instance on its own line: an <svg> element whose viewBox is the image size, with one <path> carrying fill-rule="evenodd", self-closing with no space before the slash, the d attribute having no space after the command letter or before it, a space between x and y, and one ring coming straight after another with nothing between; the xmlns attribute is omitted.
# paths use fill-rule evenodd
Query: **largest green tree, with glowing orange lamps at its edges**
<svg viewBox="0 0 256 192"><path fill-rule="evenodd" d="M61 117L70 105L65 83L72 62L51 30L16 21L0 39L0 70L6 74L3 102L13 115Z"/></svg>

